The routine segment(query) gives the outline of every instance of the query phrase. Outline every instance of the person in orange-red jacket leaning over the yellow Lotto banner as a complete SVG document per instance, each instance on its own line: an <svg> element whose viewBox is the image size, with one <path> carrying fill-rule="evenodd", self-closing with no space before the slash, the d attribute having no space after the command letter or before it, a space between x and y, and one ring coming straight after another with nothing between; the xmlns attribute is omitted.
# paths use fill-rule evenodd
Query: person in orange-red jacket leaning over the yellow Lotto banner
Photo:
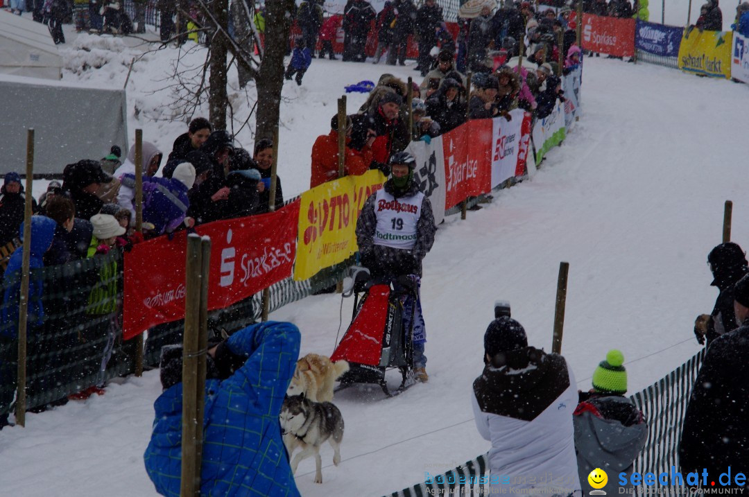
<svg viewBox="0 0 749 497"><path fill-rule="evenodd" d="M346 140L351 141L351 130L354 124L346 117ZM326 183L338 178L338 115L330 120L330 133L320 135L312 145L312 177L309 187ZM369 170L372 162L372 143L375 137L370 137L361 150L345 146L344 171L348 176L364 174Z"/></svg>

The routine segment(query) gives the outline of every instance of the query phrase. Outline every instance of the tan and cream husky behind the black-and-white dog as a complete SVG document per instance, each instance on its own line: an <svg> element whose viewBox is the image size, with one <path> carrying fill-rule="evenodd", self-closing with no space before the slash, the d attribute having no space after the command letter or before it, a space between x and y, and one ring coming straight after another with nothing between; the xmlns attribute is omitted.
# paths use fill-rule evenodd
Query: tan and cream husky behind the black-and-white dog
<svg viewBox="0 0 749 497"><path fill-rule="evenodd" d="M348 362L330 362L329 357L307 354L297 361L297 370L286 394L304 394L312 402L330 402L333 400L333 382L346 371Z"/></svg>

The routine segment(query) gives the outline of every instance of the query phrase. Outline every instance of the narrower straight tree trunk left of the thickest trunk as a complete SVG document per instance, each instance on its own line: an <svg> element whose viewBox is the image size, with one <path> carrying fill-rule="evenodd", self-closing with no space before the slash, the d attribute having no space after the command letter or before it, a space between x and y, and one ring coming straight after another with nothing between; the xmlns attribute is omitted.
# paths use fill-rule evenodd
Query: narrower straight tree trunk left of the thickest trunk
<svg viewBox="0 0 749 497"><path fill-rule="evenodd" d="M271 2L273 3L273 2ZM221 26L209 34L210 40L210 96L208 97L209 119L213 129L226 129L226 107L228 94L226 93L226 44L224 33L228 29L228 0L213 0L210 2L213 17Z"/></svg>

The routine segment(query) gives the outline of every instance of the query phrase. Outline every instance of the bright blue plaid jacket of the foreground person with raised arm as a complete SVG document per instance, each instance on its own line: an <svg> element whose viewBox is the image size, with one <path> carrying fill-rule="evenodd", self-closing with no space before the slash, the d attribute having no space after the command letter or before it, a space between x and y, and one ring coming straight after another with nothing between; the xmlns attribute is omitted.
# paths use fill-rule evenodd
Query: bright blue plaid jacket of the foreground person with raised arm
<svg viewBox="0 0 749 497"><path fill-rule="evenodd" d="M299 357L299 329L267 321L234 333L227 344L249 357L228 379L206 381L201 496L299 496L279 424ZM145 468L158 493L178 497L182 383L167 388L154 409Z"/></svg>

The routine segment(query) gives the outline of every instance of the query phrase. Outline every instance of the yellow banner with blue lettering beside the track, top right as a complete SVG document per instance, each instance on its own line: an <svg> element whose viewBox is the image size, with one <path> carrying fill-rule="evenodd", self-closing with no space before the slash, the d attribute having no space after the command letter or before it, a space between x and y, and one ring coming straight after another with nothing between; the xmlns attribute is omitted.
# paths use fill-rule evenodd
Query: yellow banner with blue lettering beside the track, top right
<svg viewBox="0 0 749 497"><path fill-rule="evenodd" d="M731 31L685 29L679 47L679 69L717 78L731 78Z"/></svg>

